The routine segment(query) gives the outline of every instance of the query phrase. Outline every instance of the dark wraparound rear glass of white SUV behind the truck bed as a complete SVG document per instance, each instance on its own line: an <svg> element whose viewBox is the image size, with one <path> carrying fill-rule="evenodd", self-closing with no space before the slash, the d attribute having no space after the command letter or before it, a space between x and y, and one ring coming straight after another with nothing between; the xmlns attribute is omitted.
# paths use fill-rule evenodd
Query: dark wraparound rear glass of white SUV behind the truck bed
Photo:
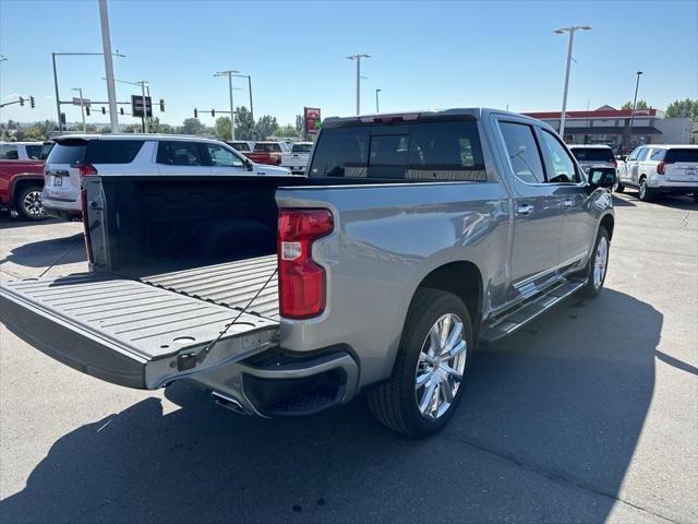
<svg viewBox="0 0 698 524"><path fill-rule="evenodd" d="M129 164L143 146L143 140L65 140L48 154L49 164Z"/></svg>

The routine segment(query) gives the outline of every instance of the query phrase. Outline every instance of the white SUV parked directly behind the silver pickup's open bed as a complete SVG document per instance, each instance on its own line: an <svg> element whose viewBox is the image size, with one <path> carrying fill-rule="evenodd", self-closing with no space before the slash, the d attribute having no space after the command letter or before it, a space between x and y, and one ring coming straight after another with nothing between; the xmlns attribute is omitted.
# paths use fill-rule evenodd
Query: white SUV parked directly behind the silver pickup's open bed
<svg viewBox="0 0 698 524"><path fill-rule="evenodd" d="M44 207L51 216L82 215L80 189L94 175L290 175L261 166L229 145L200 136L83 134L56 139L46 160Z"/></svg>

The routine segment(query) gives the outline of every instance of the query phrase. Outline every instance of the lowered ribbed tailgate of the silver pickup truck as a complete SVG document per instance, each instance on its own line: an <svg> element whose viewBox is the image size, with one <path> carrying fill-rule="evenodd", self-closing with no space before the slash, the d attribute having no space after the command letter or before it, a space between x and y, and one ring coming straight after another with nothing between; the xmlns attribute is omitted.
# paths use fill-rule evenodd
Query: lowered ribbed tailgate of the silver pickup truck
<svg viewBox="0 0 698 524"><path fill-rule="evenodd" d="M205 355L204 348L236 318ZM260 353L275 344L278 331L277 320L93 274L3 283L0 320L63 364L139 389L156 389Z"/></svg>

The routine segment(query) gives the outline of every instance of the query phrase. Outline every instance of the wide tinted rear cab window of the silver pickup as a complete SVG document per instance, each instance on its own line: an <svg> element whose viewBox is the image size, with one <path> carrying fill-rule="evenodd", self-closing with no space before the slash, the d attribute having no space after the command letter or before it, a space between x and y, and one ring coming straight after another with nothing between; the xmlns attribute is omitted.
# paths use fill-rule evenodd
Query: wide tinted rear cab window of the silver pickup
<svg viewBox="0 0 698 524"><path fill-rule="evenodd" d="M311 177L485 181L474 121L326 128Z"/></svg>

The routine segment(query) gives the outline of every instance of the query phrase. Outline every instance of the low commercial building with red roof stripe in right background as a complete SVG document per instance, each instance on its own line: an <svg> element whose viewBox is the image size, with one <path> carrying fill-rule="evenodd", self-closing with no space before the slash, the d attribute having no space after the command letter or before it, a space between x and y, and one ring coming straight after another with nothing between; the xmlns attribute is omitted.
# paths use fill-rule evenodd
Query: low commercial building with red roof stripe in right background
<svg viewBox="0 0 698 524"><path fill-rule="evenodd" d="M690 118L665 118L659 109L615 109L602 106L592 111L565 112L565 142L607 144L616 152L629 152L641 144L689 144L696 139ZM559 129L559 111L526 112ZM630 129L630 119L633 129Z"/></svg>

